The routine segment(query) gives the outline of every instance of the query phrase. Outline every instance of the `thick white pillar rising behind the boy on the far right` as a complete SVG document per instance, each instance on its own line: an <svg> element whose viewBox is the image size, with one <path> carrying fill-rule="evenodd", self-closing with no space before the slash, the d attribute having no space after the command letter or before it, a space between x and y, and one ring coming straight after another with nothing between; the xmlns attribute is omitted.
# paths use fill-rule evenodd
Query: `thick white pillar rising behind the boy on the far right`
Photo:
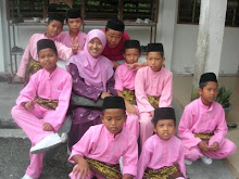
<svg viewBox="0 0 239 179"><path fill-rule="evenodd" d="M226 10L227 0L201 0L192 99L203 73L213 72L218 76Z"/></svg>

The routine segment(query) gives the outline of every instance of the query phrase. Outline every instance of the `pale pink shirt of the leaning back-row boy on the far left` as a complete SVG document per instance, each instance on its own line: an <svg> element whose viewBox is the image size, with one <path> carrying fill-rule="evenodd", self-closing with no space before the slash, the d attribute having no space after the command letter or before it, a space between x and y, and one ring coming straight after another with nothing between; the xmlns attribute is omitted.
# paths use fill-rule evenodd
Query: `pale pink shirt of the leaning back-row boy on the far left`
<svg viewBox="0 0 239 179"><path fill-rule="evenodd" d="M48 38L47 36L45 36L45 34L35 34L30 37L28 44L24 51L18 71L16 73L17 76L25 78L25 73L26 73L29 60L34 59L35 61L38 61L37 41L40 39L51 39L54 41L55 47L58 49L59 59L67 61L73 55L72 48L68 48L68 47L62 44L61 42L56 41L58 40L56 37Z"/></svg>

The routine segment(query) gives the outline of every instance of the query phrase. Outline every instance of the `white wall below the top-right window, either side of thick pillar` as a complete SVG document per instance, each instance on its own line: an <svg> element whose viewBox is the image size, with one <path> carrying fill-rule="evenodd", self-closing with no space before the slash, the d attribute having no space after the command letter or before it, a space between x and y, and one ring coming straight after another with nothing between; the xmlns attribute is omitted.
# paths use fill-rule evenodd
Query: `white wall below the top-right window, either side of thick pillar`
<svg viewBox="0 0 239 179"><path fill-rule="evenodd" d="M175 26L173 65L175 74L192 74L197 51L198 25ZM239 28L226 27L221 61L221 75L238 74Z"/></svg>

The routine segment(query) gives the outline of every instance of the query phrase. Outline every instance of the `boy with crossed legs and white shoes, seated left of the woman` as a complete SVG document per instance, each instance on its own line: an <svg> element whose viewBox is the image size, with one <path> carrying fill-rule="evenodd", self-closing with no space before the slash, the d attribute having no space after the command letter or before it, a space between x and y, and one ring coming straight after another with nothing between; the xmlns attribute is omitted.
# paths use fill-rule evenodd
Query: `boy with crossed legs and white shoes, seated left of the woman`
<svg viewBox="0 0 239 179"><path fill-rule="evenodd" d="M56 131L65 119L72 92L71 75L56 66L58 50L54 42L50 39L39 40L37 53L43 68L30 77L12 108L13 119L33 145L30 165L23 179L39 178L43 167L41 152L61 142Z"/></svg>

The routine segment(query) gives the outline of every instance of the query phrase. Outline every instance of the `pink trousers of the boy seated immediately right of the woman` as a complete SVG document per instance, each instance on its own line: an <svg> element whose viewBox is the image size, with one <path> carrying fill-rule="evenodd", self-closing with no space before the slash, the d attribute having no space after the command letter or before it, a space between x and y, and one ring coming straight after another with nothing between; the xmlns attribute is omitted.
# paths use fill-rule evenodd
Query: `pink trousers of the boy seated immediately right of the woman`
<svg viewBox="0 0 239 179"><path fill-rule="evenodd" d="M139 116L138 115L131 115L127 114L127 120L126 120L126 128L129 129L134 135L136 135L136 138L139 138Z"/></svg>

